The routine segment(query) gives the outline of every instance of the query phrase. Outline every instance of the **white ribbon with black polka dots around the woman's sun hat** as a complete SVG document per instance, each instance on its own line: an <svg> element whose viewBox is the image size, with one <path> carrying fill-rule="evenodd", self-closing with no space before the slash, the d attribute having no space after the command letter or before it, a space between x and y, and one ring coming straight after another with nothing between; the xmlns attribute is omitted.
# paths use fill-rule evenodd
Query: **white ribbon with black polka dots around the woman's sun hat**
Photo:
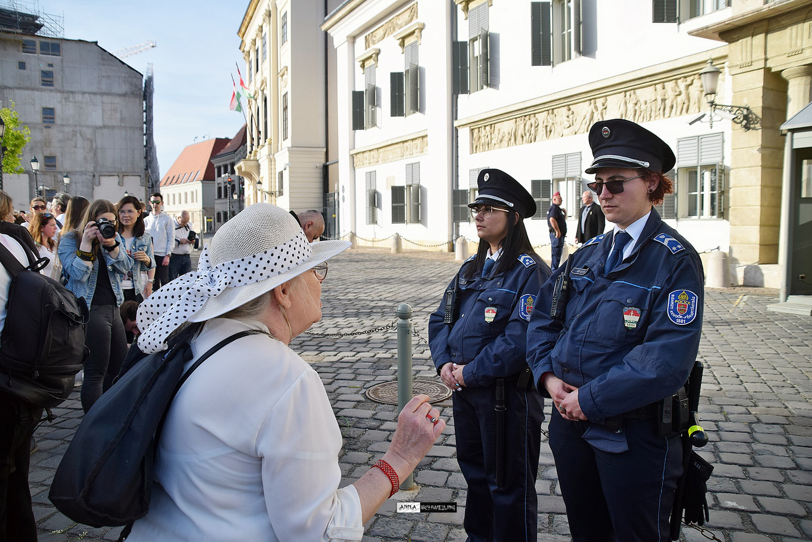
<svg viewBox="0 0 812 542"><path fill-rule="evenodd" d="M147 354L164 350L171 333L184 322L194 321L193 316L209 299L217 297L227 288L277 277L278 280L264 290L268 291L288 280L288 277L279 280L279 275L296 268L311 254L310 243L301 230L286 243L253 256L224 261L214 267L209 262L209 247L204 247L197 271L186 273L162 286L140 304L137 317L143 333L138 337L138 347ZM262 293L259 291L257 296Z"/></svg>

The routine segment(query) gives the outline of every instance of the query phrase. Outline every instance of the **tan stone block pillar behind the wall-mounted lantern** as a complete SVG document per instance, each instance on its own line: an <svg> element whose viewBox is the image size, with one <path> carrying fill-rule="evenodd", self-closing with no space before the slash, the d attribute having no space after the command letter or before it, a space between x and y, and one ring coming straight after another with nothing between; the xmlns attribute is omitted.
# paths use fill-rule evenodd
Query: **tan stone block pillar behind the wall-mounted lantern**
<svg viewBox="0 0 812 542"><path fill-rule="evenodd" d="M732 103L749 105L762 119L759 129L734 124L728 179L730 258L737 265L775 264L781 213L787 90L768 68L731 69Z"/></svg>

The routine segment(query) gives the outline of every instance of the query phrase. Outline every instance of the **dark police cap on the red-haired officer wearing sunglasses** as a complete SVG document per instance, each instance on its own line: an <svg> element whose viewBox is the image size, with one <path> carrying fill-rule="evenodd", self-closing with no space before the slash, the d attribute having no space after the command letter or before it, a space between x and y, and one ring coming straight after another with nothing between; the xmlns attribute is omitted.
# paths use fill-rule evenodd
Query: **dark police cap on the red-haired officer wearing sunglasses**
<svg viewBox="0 0 812 542"><path fill-rule="evenodd" d="M671 147L639 124L623 118L594 123L590 128L594 160L586 173L599 167L623 167L667 173L676 163Z"/></svg>

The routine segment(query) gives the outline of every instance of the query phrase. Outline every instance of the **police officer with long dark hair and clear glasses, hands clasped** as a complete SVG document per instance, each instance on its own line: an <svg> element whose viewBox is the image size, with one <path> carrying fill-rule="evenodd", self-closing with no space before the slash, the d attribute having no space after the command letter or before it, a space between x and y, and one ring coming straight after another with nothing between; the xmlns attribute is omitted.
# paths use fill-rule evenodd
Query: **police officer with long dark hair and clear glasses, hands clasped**
<svg viewBox="0 0 812 542"><path fill-rule="evenodd" d="M443 382L455 390L457 461L466 482L468 540L536 540L543 399L525 361L527 322L550 268L533 252L533 196L500 170L482 170L469 204L480 238L429 320Z"/></svg>

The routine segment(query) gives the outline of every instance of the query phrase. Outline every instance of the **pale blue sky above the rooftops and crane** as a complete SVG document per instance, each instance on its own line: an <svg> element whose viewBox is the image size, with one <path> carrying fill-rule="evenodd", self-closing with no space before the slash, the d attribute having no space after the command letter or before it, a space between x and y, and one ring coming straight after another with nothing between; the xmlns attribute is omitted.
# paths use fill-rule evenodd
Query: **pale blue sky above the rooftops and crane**
<svg viewBox="0 0 812 542"><path fill-rule="evenodd" d="M63 15L65 37L98 41L114 51L143 41L158 46L123 58L155 73L154 129L161 174L188 144L203 137L231 137L244 123L228 109L231 76L240 53L240 28L248 0L41 0L40 11ZM239 81L238 81L239 84Z"/></svg>

